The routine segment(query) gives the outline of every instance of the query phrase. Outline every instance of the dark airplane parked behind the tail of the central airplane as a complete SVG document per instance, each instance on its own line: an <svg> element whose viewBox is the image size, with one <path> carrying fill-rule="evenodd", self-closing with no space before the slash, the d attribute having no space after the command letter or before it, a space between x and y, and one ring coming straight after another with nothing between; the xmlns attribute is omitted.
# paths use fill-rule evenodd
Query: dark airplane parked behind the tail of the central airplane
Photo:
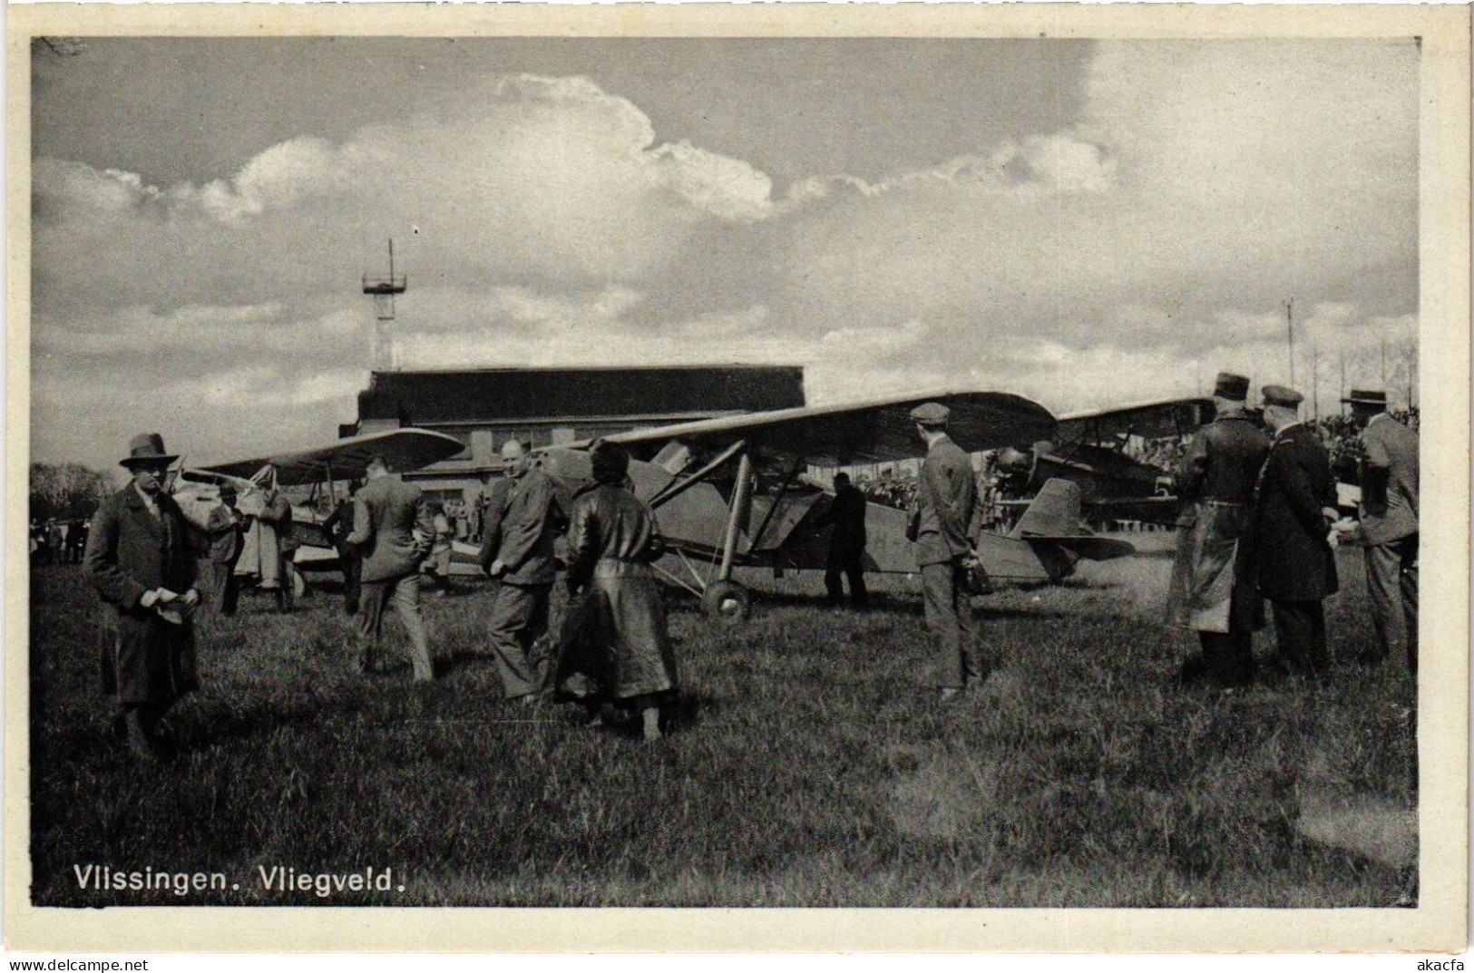
<svg viewBox="0 0 1474 973"><path fill-rule="evenodd" d="M1145 453L1181 444L1213 414L1210 398L1173 398L1061 416L1049 438L999 450L1001 485L1019 497L1002 506L1027 507L1047 482L1066 479L1092 519L1170 523L1179 507L1172 470Z"/></svg>

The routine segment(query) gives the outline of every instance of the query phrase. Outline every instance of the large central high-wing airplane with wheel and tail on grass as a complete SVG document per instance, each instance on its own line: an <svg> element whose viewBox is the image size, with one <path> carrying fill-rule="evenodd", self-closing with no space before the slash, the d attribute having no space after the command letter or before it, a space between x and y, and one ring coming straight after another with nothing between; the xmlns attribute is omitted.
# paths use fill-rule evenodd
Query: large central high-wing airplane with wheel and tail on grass
<svg viewBox="0 0 1474 973"><path fill-rule="evenodd" d="M830 529L821 526L833 494L806 467L889 463L924 456L909 411L942 402L948 435L965 451L1041 441L1055 429L1047 408L1005 392L943 391L843 405L784 408L638 429L607 436L634 456L629 478L649 503L671 553L656 565L669 584L696 594L721 619L747 616L752 594L734 568L822 569ZM565 503L593 482L591 442L548 447L539 466ZM1080 522L1080 491L1055 481L1007 534L983 534L977 556L1008 582L1055 582L1080 557L1131 553L1123 541L1095 537ZM904 510L867 504L865 571L915 573Z"/></svg>

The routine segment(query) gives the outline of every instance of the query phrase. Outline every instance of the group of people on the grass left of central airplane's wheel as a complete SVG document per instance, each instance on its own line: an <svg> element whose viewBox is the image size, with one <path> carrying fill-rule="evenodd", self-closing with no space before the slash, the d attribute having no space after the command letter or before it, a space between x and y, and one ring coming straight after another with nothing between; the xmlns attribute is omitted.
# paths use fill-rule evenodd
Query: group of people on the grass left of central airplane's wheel
<svg viewBox="0 0 1474 973"><path fill-rule="evenodd" d="M662 543L653 513L629 486L628 453L595 444L594 482L567 509L525 447L507 442L501 456L507 476L479 506L479 560L498 581L488 628L506 697L526 706L579 703L591 722L635 711L644 737L659 739L678 693L677 666L650 569ZM236 610L243 557L256 559L259 575L274 575L279 593L290 591L283 575L290 504L274 479L251 498L249 512L223 488L200 531L165 488L175 458L158 433L133 439L121 460L131 479L99 506L83 559L112 609L103 615L102 671L116 703L115 731L144 761L167 756L159 721L198 686L192 616L206 596L218 599L223 615ZM420 591L426 576L448 576L455 531L444 506L395 479L383 456L370 457L366 470L361 488L324 523L343 554L345 607L358 616L357 668L363 675L386 671L383 622L392 606L408 635L413 678L430 681L436 672ZM553 541L565 532L566 554L557 562ZM200 556L209 573L203 585ZM550 632L560 569L570 601L559 631ZM284 597L283 610L290 610Z"/></svg>

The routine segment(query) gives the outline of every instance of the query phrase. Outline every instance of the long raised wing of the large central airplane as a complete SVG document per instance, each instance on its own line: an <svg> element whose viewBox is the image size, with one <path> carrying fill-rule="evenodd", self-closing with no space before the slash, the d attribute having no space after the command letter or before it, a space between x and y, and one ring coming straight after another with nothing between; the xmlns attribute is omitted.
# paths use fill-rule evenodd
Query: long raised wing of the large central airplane
<svg viewBox="0 0 1474 973"><path fill-rule="evenodd" d="M722 448L738 441L815 466L884 463L926 454L909 413L923 402L952 410L948 435L977 453L1014 442L1042 439L1054 430L1054 416L1044 405L1007 392L943 391L905 398L883 398L837 405L803 405L721 419L637 429L607 436L625 445L666 442ZM570 444L587 448L590 441Z"/></svg>

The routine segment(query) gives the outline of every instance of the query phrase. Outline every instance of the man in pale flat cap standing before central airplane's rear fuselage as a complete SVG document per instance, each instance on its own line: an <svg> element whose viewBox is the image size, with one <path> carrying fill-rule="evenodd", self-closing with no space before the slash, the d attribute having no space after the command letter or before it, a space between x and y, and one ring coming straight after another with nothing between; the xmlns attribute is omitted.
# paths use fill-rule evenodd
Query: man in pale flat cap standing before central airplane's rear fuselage
<svg viewBox="0 0 1474 973"><path fill-rule="evenodd" d="M911 410L927 454L907 525L921 568L927 625L936 640L932 683L942 700L954 699L970 680L983 677L967 593L979 525L977 482L967 453L946 435L948 417L946 405L937 402Z"/></svg>

